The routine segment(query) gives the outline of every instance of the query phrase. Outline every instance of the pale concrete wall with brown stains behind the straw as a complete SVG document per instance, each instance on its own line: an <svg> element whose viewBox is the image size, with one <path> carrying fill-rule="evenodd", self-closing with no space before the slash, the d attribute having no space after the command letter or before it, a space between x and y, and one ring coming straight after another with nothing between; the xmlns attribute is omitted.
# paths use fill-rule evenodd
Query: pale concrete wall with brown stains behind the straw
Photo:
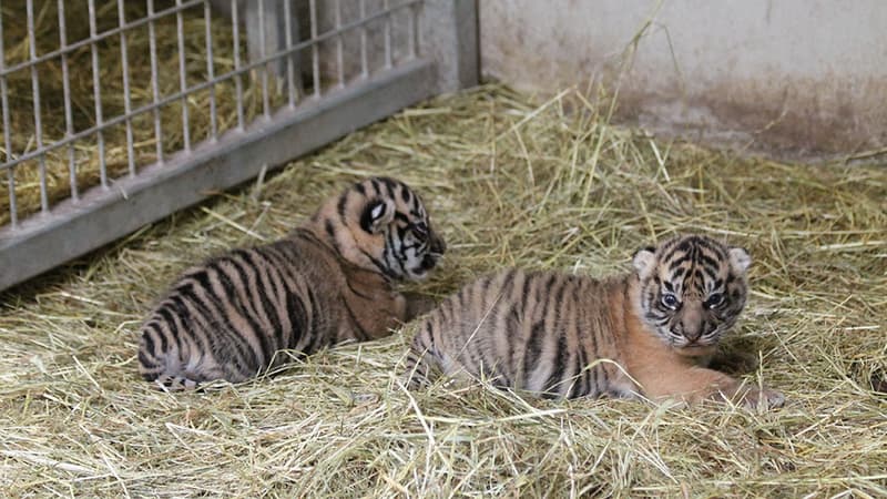
<svg viewBox="0 0 887 499"><path fill-rule="evenodd" d="M654 131L777 156L887 147L884 0L481 0L480 34L486 77L619 81L619 119Z"/></svg>

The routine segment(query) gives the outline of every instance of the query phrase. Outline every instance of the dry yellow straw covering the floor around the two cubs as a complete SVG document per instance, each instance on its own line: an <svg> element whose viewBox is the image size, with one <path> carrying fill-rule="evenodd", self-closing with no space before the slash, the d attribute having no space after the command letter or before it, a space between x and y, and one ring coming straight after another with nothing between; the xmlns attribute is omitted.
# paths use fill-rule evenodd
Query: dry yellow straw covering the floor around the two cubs
<svg viewBox="0 0 887 499"><path fill-rule="evenodd" d="M604 113L605 114L605 113ZM424 194L442 296L507 265L595 276L675 232L746 246L728 353L786 394L755 414L407 393L410 326L205 394L136 375L141 318L190 264L283 236L370 175ZM497 85L358 131L279 174L0 296L0 488L18 496L884 497L887 171L742 159L611 125L575 92Z"/></svg>

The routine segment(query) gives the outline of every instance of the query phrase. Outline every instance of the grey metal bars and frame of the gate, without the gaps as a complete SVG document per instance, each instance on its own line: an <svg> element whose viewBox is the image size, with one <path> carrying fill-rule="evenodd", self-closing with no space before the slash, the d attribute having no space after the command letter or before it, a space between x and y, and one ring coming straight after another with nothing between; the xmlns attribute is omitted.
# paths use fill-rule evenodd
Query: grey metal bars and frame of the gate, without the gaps
<svg viewBox="0 0 887 499"><path fill-rule="evenodd" d="M241 0L242 1L242 0ZM363 9L366 0L359 0ZM94 9L94 0L90 0ZM63 7L64 1L59 0ZM149 12L157 17L176 16L179 23L179 43L182 47L182 11L188 7L203 3L205 12L210 16L210 0L176 0L173 10L162 13L152 13L152 1L149 1ZM366 68L366 37L363 37L361 52L364 68L361 78L357 81L345 82L339 79L339 84L329 91L320 92L318 84L318 64L320 54L318 45L324 40L340 40L344 32L363 29L373 19L361 17L359 22L343 24L338 1L334 0L335 28L319 33L317 30L317 0L309 0L312 21L310 38L299 41L297 19L286 17L279 22L281 12L286 14L290 4L283 0L257 0L238 3L232 0L230 14L234 30L239 28L242 9L256 9L246 17L252 18L253 26L248 34L251 55L248 63L241 63L235 50L235 71L227 74L214 75L212 64L208 64L206 82L191 85L184 79L184 61L180 57L181 86L177 93L161 98L156 79L152 78L153 102L139 109L132 109L124 70L125 113L118 116L103 116L101 100L96 99L95 125L79 132L71 128L70 109L67 106L68 133L62 140L43 144L38 138L38 147L29 153L14 156L9 151L9 108L7 78L13 71L30 68L33 72L34 105L39 106L39 81L33 69L41 59L59 58L62 68L67 68L65 54L70 53L75 44L65 45L62 39L58 53L38 57L31 53L28 62L7 68L2 52L2 32L0 32L0 96L2 98L4 144L7 155L0 164L0 172L21 165L26 161L38 160L42 167L42 159L54 150L68 149L71 154L71 196L68 200L49 206L43 192L41 195L41 213L24 220L14 220L14 197L10 198L13 210L13 222L0 227L0 289L21 283L32 276L43 273L65 261L83 255L109 242L131 233L144 224L156 221L177 210L192 205L207 196L206 193L231 187L257 175L264 167L275 167L285 162L310 152L322 145L334 141L347 133L365 126L374 121L388 116L404 106L410 105L441 92L451 92L476 84L478 81L478 52L477 52L477 4L476 0L406 0L395 7L388 7L383 13L376 13L373 19L381 19L389 30L391 12L397 9L416 9L418 23L411 24L412 35L417 35L418 47L409 50L415 52L408 61L398 64L386 64L383 71L369 74ZM215 3L213 3L215 6ZM324 7L328 7L325 3ZM388 1L385 1L388 6ZM33 22L32 1L28 1L28 20ZM364 10L361 10L364 12ZM295 16L295 11L288 12ZM86 40L93 45L93 64L98 65L94 44L98 40L116 38L125 58L126 31L135 24L149 23L152 18L128 21L123 19L122 0L119 0L119 16L121 28L98 33L94 26L94 12L91 12L91 37ZM61 17L61 14L60 14ZM274 29L266 30L262 19L275 19ZM0 20L0 22L2 22ZM0 29L2 29L0 27ZM206 30L207 47L210 44L210 29ZM258 31L258 32L256 32ZM282 32L283 31L283 32ZM155 45L151 32L151 50ZM83 43L83 41L78 42ZM412 42L410 42L412 43ZM31 44L33 47L33 43ZM335 57L341 69L341 43L336 44ZM315 94L302 95L302 81L299 59L300 50L312 50L312 69ZM390 38L385 35L386 62L390 61ZM273 53L267 53L267 52ZM180 52L180 54L183 52ZM156 58L152 57L152 75L157 74ZM212 113L212 135L208 140L191 144L185 135L182 151L163 156L162 144L157 144L157 161L150 165L133 163L132 133L130 120L140 114L153 114L157 136L161 136L159 110L170 102L185 100L194 92L214 89L220 81L234 81L241 98L241 79L253 72L261 80L263 89L263 115L252 123L244 122L242 102L238 102L238 126L224 133L218 133L215 122L215 96L211 96L210 112ZM96 72L98 73L98 72ZM341 74L341 73L340 73ZM277 110L268 104L268 77L274 75L277 83L286 88L287 104ZM64 77L67 75L67 70ZM101 82L94 81L93 89L98 95L101 92ZM68 92L65 81L65 93ZM70 95L65 95L65 101ZM187 133L187 106L183 105L182 121ZM37 112L39 119L39 111ZM100 185L85 192L77 189L77 173L72 147L82 138L96 136L99 146L103 147L102 131L109 126L124 123L126 126L129 174L111 182L105 173L104 164L101 165ZM40 124L37 124L40 129ZM100 154L103 160L103 154ZM12 175L8 175L10 193L14 194ZM41 179L43 176L41 175ZM43 185L44 186L44 185Z"/></svg>

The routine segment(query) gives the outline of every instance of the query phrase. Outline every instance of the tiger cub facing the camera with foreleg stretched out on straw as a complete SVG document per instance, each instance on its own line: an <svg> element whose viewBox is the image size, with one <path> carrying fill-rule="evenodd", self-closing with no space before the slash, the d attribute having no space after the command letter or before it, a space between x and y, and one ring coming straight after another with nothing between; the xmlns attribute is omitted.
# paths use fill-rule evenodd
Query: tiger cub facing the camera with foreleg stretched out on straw
<svg viewBox="0 0 887 499"><path fill-rule="evenodd" d="M745 249L674 237L609 279L510 269L476 281L419 324L410 388L437 371L549 398L722 397L782 406L781 394L705 368L748 293Z"/></svg>

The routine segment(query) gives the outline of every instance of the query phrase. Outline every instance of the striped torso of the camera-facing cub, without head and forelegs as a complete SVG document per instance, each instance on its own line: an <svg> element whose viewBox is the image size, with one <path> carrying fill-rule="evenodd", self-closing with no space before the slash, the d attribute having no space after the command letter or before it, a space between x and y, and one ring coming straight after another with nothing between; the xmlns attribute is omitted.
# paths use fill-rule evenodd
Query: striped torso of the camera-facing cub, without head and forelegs
<svg viewBox="0 0 887 499"><path fill-rule="evenodd" d="M495 385L578 397L630 390L612 363L624 329L621 281L510 269L481 277L443 301L419 325L408 368L430 377L421 353L443 373L460 369ZM592 364L590 366L590 364Z"/></svg>

